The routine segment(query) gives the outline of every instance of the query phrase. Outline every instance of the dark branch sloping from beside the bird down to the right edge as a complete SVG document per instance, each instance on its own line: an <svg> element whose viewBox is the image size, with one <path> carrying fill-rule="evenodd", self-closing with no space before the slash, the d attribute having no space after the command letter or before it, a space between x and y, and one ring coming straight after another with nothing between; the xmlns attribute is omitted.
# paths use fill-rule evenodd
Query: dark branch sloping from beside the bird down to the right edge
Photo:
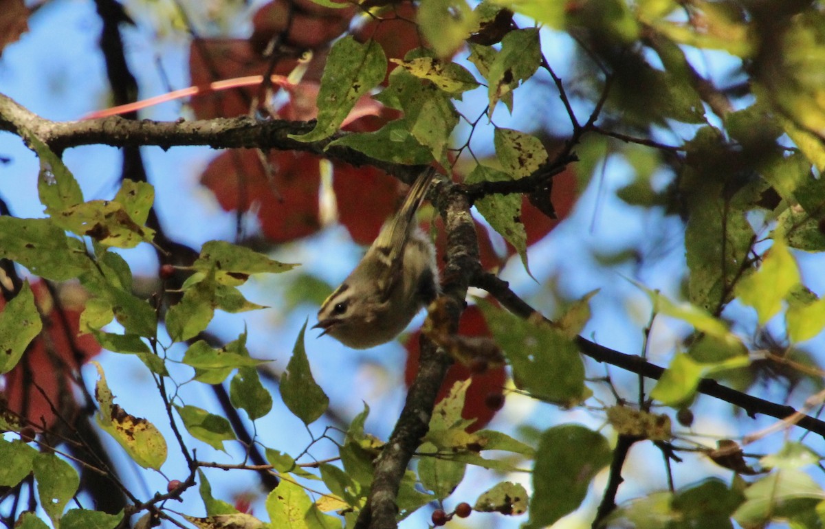
<svg viewBox="0 0 825 529"><path fill-rule="evenodd" d="M516 296L516 294L510 290L507 282L498 279L493 274L477 275L473 280L473 286L483 288L506 307L507 310L512 311L518 316L526 318L537 313L533 307L530 307L521 297ZM576 338L576 344L582 353L597 362L609 363L610 365L620 367L625 369L625 371L634 372L643 377L658 380L665 371L663 367L646 362L638 356L620 353L619 351L596 344L581 336ZM703 378L701 380L698 391L704 395L712 396L738 406L742 408L742 410L745 410L750 417L755 417L756 414L764 414L775 419L786 419L798 414L797 410L794 410L792 406L779 405L770 400L747 395L747 393L742 393L742 391L736 391L727 386L722 386L719 382L709 378ZM800 428L825 437L825 422L815 419L810 415L801 414L799 420L794 417L792 424L796 424Z"/></svg>

